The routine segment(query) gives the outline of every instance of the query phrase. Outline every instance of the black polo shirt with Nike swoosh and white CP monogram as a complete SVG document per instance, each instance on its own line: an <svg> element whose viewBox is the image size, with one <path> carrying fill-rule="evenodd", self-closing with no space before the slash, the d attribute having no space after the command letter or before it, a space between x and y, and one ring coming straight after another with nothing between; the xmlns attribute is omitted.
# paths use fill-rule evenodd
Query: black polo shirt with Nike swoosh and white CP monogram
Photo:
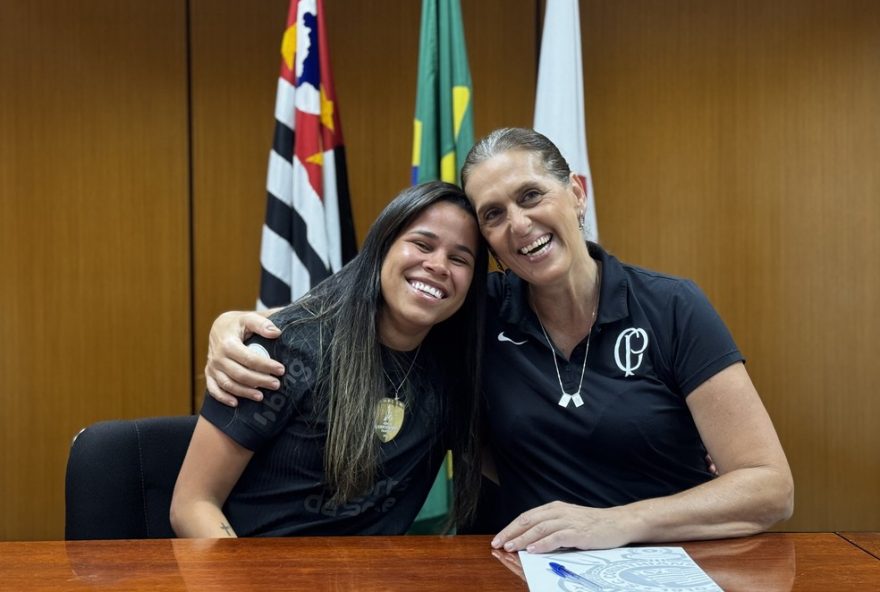
<svg viewBox="0 0 880 592"><path fill-rule="evenodd" d="M541 332L525 282L490 274L483 417L502 524L554 500L603 508L711 478L685 398L742 354L696 284L589 248L602 285L581 406L560 405L552 356L574 393L587 340L566 360Z"/></svg>

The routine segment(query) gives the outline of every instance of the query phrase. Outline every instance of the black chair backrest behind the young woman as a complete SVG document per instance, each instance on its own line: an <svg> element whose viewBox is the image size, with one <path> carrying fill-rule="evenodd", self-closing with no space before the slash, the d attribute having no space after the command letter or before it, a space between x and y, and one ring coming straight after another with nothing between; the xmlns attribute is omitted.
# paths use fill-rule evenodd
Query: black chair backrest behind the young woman
<svg viewBox="0 0 880 592"><path fill-rule="evenodd" d="M171 493L197 416L102 421L74 439L67 459L67 540L174 536Z"/></svg>

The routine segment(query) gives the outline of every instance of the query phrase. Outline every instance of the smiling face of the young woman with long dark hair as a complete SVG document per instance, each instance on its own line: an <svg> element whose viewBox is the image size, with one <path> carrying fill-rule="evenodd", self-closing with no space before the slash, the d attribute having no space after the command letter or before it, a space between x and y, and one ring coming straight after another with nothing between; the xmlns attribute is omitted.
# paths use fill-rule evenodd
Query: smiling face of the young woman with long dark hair
<svg viewBox="0 0 880 592"><path fill-rule="evenodd" d="M473 216L439 202L417 216L382 262L379 340L415 348L464 303L474 275L479 232Z"/></svg>

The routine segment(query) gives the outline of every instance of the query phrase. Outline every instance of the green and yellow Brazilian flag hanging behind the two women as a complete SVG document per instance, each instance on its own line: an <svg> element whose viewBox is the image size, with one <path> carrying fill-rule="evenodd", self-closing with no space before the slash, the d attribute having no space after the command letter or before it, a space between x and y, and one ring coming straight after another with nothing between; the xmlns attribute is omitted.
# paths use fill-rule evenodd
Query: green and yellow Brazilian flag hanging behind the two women
<svg viewBox="0 0 880 592"><path fill-rule="evenodd" d="M471 72L458 0L422 0L412 183L458 183L474 144ZM438 533L452 505L452 455L437 474L410 532Z"/></svg>

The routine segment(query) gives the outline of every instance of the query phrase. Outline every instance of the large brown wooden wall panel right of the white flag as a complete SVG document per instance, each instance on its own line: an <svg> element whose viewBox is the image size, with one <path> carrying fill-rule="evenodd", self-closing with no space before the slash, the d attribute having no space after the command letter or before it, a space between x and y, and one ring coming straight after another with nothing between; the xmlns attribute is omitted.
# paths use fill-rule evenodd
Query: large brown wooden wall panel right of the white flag
<svg viewBox="0 0 880 592"><path fill-rule="evenodd" d="M696 279L794 471L781 526L880 529L880 5L582 3L603 243Z"/></svg>

